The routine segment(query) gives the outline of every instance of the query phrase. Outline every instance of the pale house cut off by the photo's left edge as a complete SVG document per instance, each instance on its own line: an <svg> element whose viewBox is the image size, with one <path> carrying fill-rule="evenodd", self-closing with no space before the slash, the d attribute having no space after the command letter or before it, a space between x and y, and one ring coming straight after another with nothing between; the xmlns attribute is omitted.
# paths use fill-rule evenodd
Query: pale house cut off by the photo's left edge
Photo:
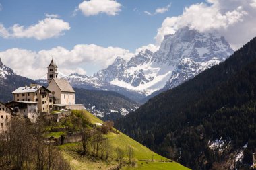
<svg viewBox="0 0 256 170"><path fill-rule="evenodd" d="M7 130L11 120L11 108L0 102L0 134Z"/></svg>

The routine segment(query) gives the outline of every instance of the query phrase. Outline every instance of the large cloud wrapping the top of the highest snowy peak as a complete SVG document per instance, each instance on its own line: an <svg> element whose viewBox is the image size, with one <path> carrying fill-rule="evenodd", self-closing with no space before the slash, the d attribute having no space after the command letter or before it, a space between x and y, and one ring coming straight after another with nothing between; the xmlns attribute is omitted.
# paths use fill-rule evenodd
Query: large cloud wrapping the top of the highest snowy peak
<svg viewBox="0 0 256 170"><path fill-rule="evenodd" d="M167 17L162 22L155 37L156 44L162 42L164 35L190 26L201 32L216 30L237 49L256 35L254 5L255 0L208 0L185 7L182 15Z"/></svg>

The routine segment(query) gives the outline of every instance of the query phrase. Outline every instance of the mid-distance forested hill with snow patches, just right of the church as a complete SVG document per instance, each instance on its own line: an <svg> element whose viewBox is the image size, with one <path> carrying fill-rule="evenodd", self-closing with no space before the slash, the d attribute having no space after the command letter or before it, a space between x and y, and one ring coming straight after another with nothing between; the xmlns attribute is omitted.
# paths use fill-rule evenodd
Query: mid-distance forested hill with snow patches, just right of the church
<svg viewBox="0 0 256 170"><path fill-rule="evenodd" d="M102 120L115 120L131 111L139 104L114 91L75 89L75 103L82 103L86 110Z"/></svg>

